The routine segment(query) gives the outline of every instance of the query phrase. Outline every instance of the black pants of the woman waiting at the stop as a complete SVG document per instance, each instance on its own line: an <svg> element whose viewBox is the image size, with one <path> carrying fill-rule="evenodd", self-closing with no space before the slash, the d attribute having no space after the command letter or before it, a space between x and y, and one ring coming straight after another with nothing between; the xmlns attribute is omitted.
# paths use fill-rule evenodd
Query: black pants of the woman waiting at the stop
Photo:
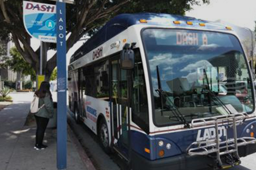
<svg viewBox="0 0 256 170"><path fill-rule="evenodd" d="M49 119L45 117L36 116L36 145L42 145L44 140L44 132L48 125Z"/></svg>

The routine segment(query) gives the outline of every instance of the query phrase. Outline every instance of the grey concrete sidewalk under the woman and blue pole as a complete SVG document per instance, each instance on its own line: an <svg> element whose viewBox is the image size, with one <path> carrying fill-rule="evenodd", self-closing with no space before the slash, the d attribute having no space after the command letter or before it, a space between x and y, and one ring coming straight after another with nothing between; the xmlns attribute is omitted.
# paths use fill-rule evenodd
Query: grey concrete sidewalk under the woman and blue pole
<svg viewBox="0 0 256 170"><path fill-rule="evenodd" d="M22 100L22 98L20 98ZM30 103L15 101L0 111L0 169L56 170L57 131L47 129L45 150L35 150L36 126L24 126ZM69 131L70 133L70 131ZM86 170L76 146L68 134L67 169Z"/></svg>

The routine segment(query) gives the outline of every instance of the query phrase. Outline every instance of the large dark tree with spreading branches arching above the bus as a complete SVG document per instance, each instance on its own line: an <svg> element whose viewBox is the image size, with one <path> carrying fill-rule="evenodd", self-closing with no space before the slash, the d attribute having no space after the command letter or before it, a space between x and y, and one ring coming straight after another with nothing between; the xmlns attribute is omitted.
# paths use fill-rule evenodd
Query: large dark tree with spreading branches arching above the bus
<svg viewBox="0 0 256 170"><path fill-rule="evenodd" d="M35 0L36 2L45 2ZM54 2L47 2L54 3ZM75 0L75 5L67 5L67 51L85 34L94 34L106 21L120 13L157 12L185 14L193 5L209 3L209 0ZM0 0L0 35L2 39L14 41L18 51L36 74L39 73L40 49L30 46L30 35L23 25L22 0ZM22 45L20 45L20 43ZM55 44L48 44L55 48ZM43 64L43 74L49 80L56 67L56 54Z"/></svg>

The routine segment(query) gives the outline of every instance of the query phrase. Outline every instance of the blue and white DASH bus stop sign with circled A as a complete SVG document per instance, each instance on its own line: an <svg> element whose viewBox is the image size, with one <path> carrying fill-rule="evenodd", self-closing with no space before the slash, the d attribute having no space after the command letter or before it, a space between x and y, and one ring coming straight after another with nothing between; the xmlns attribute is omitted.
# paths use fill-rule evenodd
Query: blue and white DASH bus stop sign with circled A
<svg viewBox="0 0 256 170"><path fill-rule="evenodd" d="M56 43L56 5L23 1L23 21L32 37Z"/></svg>

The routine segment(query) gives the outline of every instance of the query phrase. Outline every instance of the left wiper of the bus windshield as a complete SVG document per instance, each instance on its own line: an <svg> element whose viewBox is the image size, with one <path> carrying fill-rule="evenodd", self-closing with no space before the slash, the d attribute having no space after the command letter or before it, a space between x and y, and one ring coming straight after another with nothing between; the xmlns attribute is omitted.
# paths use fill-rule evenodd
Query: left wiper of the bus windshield
<svg viewBox="0 0 256 170"><path fill-rule="evenodd" d="M161 98L161 116L163 116L163 109L164 109L164 105L163 105L163 96L162 94L165 94L164 91L162 90L162 86L161 86L161 79L160 79L160 73L159 73L159 69L158 66L156 66L156 73L157 73L157 81L158 81L158 89L156 90L158 92L158 95ZM167 95L166 95L167 96ZM168 98L166 97L171 103L172 105L175 107L174 103ZM185 128L190 128L189 123L187 123L186 119L184 118L184 116L179 112L179 110L175 107L175 109L171 109L172 113L176 116L179 117L179 119L184 123L184 127Z"/></svg>

